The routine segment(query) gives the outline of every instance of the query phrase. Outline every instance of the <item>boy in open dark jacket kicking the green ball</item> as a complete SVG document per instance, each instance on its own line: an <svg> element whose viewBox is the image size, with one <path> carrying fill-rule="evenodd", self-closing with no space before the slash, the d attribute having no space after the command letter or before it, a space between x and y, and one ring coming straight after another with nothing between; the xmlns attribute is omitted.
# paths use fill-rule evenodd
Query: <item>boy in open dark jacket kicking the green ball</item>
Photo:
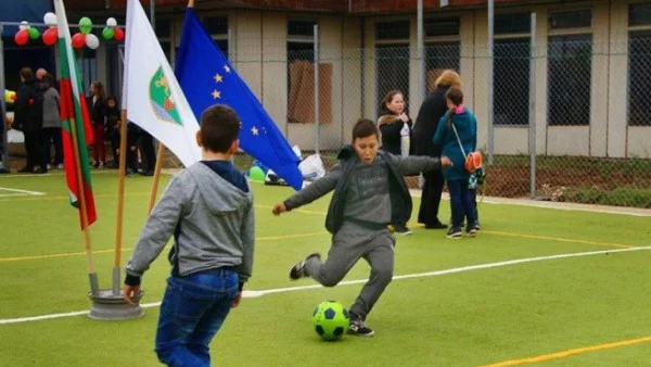
<svg viewBox="0 0 651 367"><path fill-rule="evenodd" d="M407 223L411 216L411 197L403 176L450 165L445 156L400 157L378 151L379 136L372 121L358 121L353 145L341 150L339 165L272 210L280 215L334 190L326 218L326 228L334 235L327 261L312 253L292 267L290 278L312 277L324 287L334 287L363 257L371 276L349 308L348 326L348 333L361 337L373 336L365 320L393 277L395 238L386 226Z"/></svg>

